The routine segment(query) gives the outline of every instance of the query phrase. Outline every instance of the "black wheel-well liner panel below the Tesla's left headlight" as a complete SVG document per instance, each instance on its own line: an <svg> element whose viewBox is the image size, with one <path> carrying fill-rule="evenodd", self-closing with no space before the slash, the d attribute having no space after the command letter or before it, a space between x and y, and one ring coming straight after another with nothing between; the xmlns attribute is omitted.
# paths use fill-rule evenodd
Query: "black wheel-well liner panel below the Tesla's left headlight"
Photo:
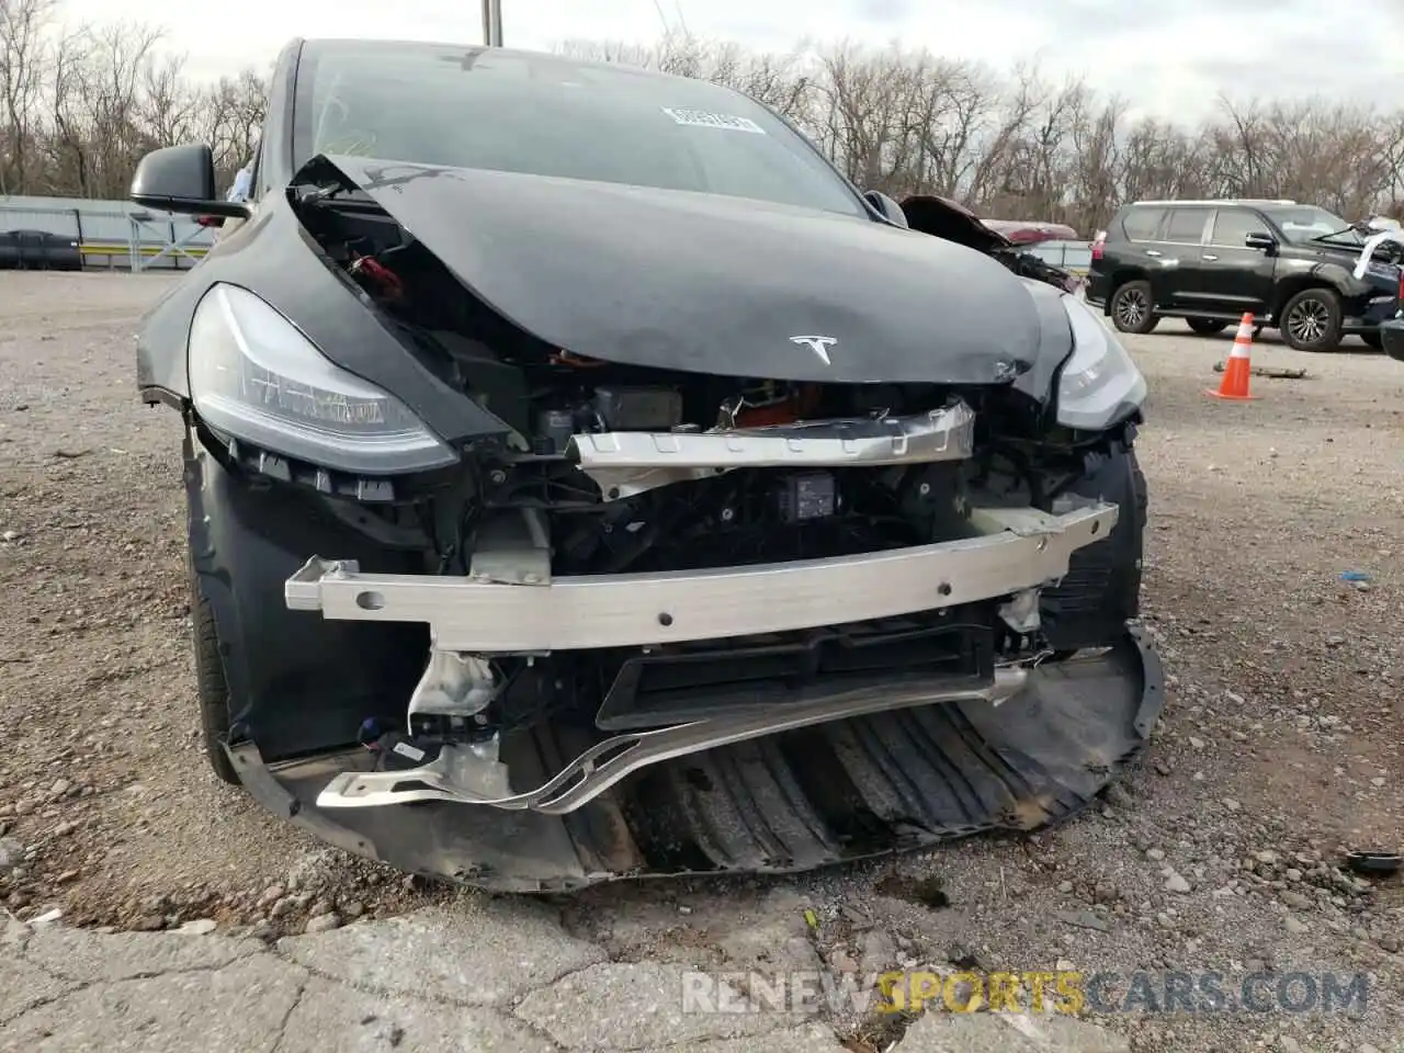
<svg viewBox="0 0 1404 1053"><path fill-rule="evenodd" d="M368 717L403 723L427 628L289 611L284 583L313 555L382 573L423 571L420 559L334 518L330 498L226 468L188 430L184 455L191 563L219 635L230 741L278 761L354 744Z"/></svg>

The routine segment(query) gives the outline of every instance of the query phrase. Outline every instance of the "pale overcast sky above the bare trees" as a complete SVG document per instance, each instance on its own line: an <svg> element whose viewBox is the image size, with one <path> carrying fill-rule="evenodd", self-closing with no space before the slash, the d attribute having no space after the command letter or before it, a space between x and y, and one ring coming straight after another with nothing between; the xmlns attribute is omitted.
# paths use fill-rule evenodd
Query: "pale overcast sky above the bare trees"
<svg viewBox="0 0 1404 1053"><path fill-rule="evenodd" d="M504 44L646 42L678 0L501 0ZM197 76L264 66L295 35L482 41L479 0L65 0L67 18L168 29ZM223 13L229 11L230 15ZM760 49L901 41L1005 66L1040 58L1137 110L1193 121L1238 98L1320 93L1404 107L1404 0L681 0L694 34Z"/></svg>

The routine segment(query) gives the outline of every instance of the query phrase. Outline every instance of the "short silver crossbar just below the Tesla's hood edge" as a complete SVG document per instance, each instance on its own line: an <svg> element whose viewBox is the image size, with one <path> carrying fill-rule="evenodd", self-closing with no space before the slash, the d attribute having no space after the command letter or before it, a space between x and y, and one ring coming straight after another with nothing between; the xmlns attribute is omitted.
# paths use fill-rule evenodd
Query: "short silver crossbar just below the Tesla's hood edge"
<svg viewBox="0 0 1404 1053"><path fill-rule="evenodd" d="M573 435L566 453L605 501L739 468L873 468L965 461L974 410L963 402L910 417L821 420L727 431Z"/></svg>

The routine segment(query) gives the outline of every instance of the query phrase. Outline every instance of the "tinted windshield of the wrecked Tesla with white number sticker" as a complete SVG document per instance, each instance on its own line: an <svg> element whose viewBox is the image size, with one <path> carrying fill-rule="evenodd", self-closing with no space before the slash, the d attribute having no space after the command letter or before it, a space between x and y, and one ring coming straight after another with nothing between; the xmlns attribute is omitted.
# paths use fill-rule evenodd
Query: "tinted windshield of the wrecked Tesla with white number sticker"
<svg viewBox="0 0 1404 1053"><path fill-rule="evenodd" d="M699 80L549 55L307 45L295 152L757 198L865 215L779 118Z"/></svg>

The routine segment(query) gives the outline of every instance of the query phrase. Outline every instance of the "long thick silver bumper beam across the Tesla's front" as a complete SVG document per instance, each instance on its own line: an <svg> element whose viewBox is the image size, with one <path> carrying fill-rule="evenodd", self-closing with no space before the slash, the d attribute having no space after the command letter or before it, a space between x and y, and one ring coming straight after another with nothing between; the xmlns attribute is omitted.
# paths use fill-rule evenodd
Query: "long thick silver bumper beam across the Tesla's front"
<svg viewBox="0 0 1404 1053"><path fill-rule="evenodd" d="M476 654L635 647L894 618L1050 584L1077 549L1106 538L1113 504L1063 515L973 508L980 536L840 559L751 567L590 574L503 584L362 574L313 556L284 585L292 611L355 622L423 622L431 647Z"/></svg>

